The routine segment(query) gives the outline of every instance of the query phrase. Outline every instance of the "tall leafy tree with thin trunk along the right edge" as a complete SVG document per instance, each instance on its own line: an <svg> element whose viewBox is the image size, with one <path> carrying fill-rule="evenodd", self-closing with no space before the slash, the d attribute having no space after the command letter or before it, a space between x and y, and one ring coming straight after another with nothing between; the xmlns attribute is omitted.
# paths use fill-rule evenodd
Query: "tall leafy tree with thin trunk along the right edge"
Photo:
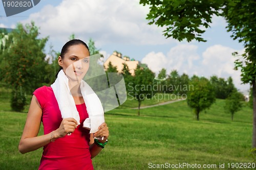
<svg viewBox="0 0 256 170"><path fill-rule="evenodd" d="M241 80L252 86L253 130L252 148L256 148L256 13L253 0L229 1L224 8L227 29L234 40L244 44L245 53L236 60L236 69L241 69ZM233 53L238 56L237 53ZM242 58L241 58L242 57Z"/></svg>

